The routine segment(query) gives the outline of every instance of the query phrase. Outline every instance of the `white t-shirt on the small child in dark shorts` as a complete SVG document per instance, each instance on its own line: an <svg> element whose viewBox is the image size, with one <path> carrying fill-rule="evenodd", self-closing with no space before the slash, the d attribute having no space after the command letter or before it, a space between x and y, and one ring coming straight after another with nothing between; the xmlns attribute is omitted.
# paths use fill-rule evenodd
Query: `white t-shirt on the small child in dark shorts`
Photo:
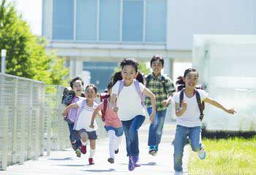
<svg viewBox="0 0 256 175"><path fill-rule="evenodd" d="M78 101L76 104L78 104L79 107L82 106L83 100ZM91 125L91 117L92 114L94 113L94 109L97 108L97 103L94 102L94 106L84 106L82 109L79 117L78 117L78 122L76 124L75 130L79 131L80 129L86 129L86 131L91 132L91 131L96 131L98 128L98 125L96 123L96 120L94 120L94 128L90 128L89 125Z"/></svg>

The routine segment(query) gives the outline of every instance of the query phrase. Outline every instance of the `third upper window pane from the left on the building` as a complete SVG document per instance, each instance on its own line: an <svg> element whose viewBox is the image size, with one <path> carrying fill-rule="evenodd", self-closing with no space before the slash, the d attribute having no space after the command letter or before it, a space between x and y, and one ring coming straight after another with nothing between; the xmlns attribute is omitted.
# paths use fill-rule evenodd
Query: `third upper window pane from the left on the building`
<svg viewBox="0 0 256 175"><path fill-rule="evenodd" d="M99 40L119 41L120 0L99 1Z"/></svg>

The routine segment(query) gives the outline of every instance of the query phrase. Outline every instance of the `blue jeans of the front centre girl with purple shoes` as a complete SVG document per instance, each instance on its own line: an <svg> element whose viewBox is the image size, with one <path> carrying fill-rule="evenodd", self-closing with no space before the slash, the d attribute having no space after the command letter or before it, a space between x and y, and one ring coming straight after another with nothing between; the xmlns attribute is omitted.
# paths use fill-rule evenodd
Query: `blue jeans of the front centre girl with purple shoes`
<svg viewBox="0 0 256 175"><path fill-rule="evenodd" d="M121 121L124 128L125 140L127 142L127 156L139 155L138 129L143 124L145 116L137 115L132 120Z"/></svg>

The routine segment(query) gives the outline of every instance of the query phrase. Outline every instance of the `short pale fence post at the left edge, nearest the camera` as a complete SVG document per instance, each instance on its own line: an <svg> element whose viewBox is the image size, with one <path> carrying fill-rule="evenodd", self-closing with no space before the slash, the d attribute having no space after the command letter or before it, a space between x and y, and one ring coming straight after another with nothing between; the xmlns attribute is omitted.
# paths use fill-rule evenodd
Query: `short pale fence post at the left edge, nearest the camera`
<svg viewBox="0 0 256 175"><path fill-rule="evenodd" d="M2 117L3 131L1 131L3 136L3 149L2 149L2 158L1 158L1 169L7 170L8 164L8 106L0 106Z"/></svg>

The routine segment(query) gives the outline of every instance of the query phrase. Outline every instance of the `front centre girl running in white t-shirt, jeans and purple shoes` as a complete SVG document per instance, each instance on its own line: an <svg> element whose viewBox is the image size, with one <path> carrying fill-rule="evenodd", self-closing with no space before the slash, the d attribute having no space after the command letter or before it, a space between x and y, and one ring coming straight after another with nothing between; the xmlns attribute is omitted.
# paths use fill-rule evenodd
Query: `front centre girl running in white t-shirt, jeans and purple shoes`
<svg viewBox="0 0 256 175"><path fill-rule="evenodd" d="M124 135L127 144L127 156L129 156L128 169L132 171L139 163L139 140L138 129L145 120L145 108L143 95L149 96L152 103L151 123L154 122L156 112L156 98L143 83L141 74L138 76L138 62L134 58L127 58L121 61L121 72L113 77L111 108L118 107L118 117L124 128ZM135 78L138 78L137 79ZM139 78L140 77L140 78ZM115 106L116 101L116 106Z"/></svg>

